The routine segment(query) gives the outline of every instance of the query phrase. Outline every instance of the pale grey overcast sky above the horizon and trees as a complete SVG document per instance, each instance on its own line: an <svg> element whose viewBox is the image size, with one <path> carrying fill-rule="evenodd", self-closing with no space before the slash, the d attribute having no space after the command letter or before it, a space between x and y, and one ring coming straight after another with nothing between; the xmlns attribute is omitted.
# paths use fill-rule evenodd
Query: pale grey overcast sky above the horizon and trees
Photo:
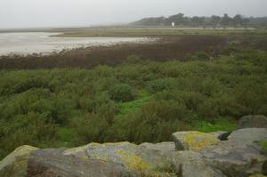
<svg viewBox="0 0 267 177"><path fill-rule="evenodd" d="M145 17L267 16L267 0L0 0L0 28L83 27Z"/></svg>

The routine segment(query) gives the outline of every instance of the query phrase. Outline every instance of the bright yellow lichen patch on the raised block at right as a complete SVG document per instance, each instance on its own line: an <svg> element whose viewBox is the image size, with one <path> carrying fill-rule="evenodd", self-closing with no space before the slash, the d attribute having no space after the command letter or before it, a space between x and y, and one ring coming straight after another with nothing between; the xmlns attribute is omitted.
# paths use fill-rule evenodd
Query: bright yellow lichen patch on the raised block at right
<svg viewBox="0 0 267 177"><path fill-rule="evenodd" d="M214 135L209 133L189 132L184 137L186 149L201 150L219 140Z"/></svg>

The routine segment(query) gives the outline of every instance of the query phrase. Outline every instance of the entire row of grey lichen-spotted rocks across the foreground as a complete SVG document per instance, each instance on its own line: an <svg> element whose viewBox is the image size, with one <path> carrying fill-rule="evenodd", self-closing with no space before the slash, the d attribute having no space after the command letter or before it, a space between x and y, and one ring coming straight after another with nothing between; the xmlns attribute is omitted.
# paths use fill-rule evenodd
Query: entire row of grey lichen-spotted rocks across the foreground
<svg viewBox="0 0 267 177"><path fill-rule="evenodd" d="M22 146L0 162L0 176L249 176L263 173L267 129L174 133L174 142L90 143L73 149ZM226 136L226 135L225 135ZM263 164L264 163L264 164ZM266 168L266 167L265 167Z"/></svg>

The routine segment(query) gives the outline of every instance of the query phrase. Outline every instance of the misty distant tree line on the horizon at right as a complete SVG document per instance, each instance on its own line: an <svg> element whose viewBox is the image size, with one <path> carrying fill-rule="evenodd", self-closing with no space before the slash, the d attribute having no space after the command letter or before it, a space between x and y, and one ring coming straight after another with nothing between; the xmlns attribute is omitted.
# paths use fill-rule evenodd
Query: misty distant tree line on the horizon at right
<svg viewBox="0 0 267 177"><path fill-rule="evenodd" d="M240 14L234 17L229 16L224 13L223 16L213 15L210 17L205 16L184 16L183 13L178 13L169 17L151 17L142 20L137 20L130 25L134 26L171 26L172 22L175 26L179 27L212 27L212 28L266 28L267 27L267 17L245 17Z"/></svg>

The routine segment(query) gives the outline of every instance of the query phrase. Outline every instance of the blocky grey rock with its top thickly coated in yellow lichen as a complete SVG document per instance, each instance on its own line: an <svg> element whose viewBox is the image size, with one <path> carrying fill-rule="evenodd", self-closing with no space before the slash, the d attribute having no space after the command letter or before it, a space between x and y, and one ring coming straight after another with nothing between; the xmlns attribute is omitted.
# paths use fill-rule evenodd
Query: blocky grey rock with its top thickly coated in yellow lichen
<svg viewBox="0 0 267 177"><path fill-rule="evenodd" d="M173 133L175 149L200 150L219 141L219 133L178 132Z"/></svg>

